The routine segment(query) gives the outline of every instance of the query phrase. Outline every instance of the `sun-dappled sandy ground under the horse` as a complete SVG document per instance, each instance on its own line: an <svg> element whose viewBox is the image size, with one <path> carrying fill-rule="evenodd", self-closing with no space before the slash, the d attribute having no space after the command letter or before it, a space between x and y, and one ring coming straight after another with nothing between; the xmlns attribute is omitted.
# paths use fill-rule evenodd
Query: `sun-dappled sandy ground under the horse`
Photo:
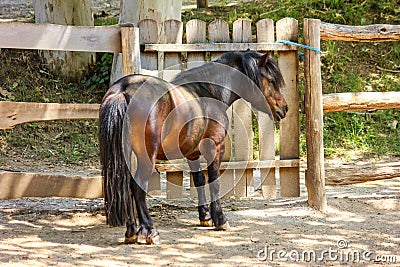
<svg viewBox="0 0 400 267"><path fill-rule="evenodd" d="M199 227L193 199L151 199L158 246L123 244L101 199L3 200L0 265L400 266L400 179L327 187L326 213L307 206L304 186L300 198L259 194L223 201L226 232Z"/></svg>

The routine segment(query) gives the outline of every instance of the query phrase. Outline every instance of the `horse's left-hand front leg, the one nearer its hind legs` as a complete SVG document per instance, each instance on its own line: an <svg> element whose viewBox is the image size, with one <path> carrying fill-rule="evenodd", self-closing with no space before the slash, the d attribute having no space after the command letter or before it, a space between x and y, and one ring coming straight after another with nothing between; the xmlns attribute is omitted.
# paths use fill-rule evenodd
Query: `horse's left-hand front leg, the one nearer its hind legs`
<svg viewBox="0 0 400 267"><path fill-rule="evenodd" d="M190 161L189 167L193 177L194 185L196 186L197 196L198 196L198 210L199 210L199 220L201 226L212 226L212 220L210 215L210 210L207 204L206 192L204 186L206 185L206 178L200 168L199 159Z"/></svg>

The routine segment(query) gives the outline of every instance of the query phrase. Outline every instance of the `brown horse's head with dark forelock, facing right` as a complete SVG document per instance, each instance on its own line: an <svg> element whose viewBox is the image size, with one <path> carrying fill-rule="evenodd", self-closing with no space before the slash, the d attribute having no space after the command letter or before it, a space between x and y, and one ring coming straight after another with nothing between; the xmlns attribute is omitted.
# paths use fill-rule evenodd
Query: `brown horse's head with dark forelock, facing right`
<svg viewBox="0 0 400 267"><path fill-rule="evenodd" d="M255 54L255 53L254 53ZM266 53L257 57L259 70L258 84L272 111L275 121L280 121L288 112L288 105L280 90L285 87L285 81L278 64Z"/></svg>

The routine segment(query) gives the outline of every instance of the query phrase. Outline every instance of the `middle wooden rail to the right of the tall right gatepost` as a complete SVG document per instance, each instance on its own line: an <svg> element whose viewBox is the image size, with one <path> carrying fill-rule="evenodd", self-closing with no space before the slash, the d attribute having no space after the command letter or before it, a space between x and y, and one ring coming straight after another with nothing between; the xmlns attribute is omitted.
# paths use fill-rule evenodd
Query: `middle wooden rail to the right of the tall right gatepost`
<svg viewBox="0 0 400 267"><path fill-rule="evenodd" d="M358 92L323 95L324 113L400 108L400 92Z"/></svg>

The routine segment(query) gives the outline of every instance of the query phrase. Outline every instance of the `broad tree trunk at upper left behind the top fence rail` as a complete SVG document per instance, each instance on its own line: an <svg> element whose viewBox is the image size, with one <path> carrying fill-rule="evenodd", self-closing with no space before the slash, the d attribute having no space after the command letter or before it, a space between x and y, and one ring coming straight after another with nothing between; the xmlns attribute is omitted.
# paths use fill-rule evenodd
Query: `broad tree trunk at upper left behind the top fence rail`
<svg viewBox="0 0 400 267"><path fill-rule="evenodd" d="M36 0L34 10L36 23L94 25L91 0ZM68 38L67 34L65 38ZM40 54L50 70L75 79L81 76L88 64L95 61L95 53L42 51Z"/></svg>

